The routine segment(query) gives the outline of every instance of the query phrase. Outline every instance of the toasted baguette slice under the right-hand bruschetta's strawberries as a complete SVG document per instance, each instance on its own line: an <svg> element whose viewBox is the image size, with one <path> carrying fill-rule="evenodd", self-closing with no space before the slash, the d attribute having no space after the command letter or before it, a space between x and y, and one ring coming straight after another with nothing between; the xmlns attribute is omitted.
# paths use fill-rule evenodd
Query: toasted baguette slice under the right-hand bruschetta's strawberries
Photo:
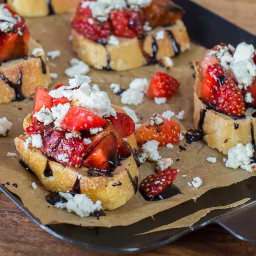
<svg viewBox="0 0 256 256"><path fill-rule="evenodd" d="M204 141L210 148L217 148L223 154L228 154L229 148L235 147L237 143L255 144L256 118L252 116L255 110L246 111L244 118L233 119L204 104L200 99L203 77L199 73L199 65L198 61L194 62L194 121L196 128L202 128Z"/></svg>

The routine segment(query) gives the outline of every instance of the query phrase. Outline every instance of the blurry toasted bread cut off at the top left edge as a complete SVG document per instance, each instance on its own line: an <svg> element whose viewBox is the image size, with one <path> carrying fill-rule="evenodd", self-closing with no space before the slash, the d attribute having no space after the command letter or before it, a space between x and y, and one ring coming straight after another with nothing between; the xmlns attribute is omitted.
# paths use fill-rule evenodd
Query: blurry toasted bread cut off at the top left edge
<svg viewBox="0 0 256 256"><path fill-rule="evenodd" d="M80 0L7 0L13 10L25 17L74 12Z"/></svg>

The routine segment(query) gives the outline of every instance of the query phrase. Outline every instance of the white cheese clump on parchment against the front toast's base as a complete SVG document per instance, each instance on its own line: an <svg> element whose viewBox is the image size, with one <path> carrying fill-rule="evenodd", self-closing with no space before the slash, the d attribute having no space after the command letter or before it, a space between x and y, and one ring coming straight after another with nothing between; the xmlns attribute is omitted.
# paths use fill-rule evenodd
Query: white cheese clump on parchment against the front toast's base
<svg viewBox="0 0 256 256"><path fill-rule="evenodd" d="M85 194L76 194L74 196L70 193L60 192L59 194L61 197L65 198L67 202L57 202L54 206L59 209L66 208L68 212L75 212L80 217L88 217L91 213L102 209L101 201L98 200L94 203Z"/></svg>

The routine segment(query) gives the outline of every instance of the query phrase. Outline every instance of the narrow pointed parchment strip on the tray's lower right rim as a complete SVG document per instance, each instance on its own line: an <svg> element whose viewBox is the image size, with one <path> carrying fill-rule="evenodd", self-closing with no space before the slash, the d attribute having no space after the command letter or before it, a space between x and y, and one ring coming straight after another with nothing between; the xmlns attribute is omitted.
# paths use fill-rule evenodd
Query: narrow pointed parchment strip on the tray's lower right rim
<svg viewBox="0 0 256 256"><path fill-rule="evenodd" d="M210 207L210 208L206 208L206 209L202 209L200 211L197 211L193 214L190 214L189 216L186 216L184 218L181 218L175 222L172 222L170 224L167 225L163 225L161 227L158 227L156 229L152 229L148 232L144 232L138 235L145 235L145 234L149 234L149 233L153 233L153 232L157 232L157 231L162 231L162 230L166 230L166 229L179 229L179 228L186 228L186 227L191 227L193 224L195 224L195 222L198 222L202 217L206 216L210 211L216 210L216 209L229 209L229 208L234 208L237 207L239 205L242 205L246 202L248 202L250 200L250 198L244 198L238 202L234 202L228 205L223 205L223 206L215 206L215 207Z"/></svg>

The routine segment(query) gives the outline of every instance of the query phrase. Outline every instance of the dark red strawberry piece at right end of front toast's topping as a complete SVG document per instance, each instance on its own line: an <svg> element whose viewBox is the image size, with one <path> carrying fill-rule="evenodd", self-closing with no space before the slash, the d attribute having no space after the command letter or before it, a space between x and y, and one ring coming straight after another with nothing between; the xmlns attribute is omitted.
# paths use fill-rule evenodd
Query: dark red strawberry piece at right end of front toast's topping
<svg viewBox="0 0 256 256"><path fill-rule="evenodd" d="M116 113L116 118L114 116L110 116L108 117L108 120L111 121L122 138L126 138L135 133L134 121L124 113Z"/></svg>

